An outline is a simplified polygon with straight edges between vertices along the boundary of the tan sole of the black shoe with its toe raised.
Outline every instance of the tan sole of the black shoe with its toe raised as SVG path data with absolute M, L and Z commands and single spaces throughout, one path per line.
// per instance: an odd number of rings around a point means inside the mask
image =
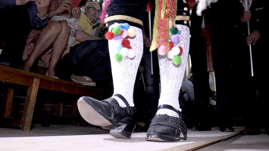
M 114 124 L 102 116 L 98 111 L 96 111 L 90 102 L 83 97 L 79 98 L 77 101 L 77 108 L 79 109 L 79 113 L 83 119 L 90 124 L 97 126 L 109 126 Z

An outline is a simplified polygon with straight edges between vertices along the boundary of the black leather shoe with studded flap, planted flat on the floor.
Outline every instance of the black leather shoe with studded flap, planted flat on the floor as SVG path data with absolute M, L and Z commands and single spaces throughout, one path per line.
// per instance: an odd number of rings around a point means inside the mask
M 158 109 L 171 109 L 179 114 L 178 117 L 155 115 L 147 131 L 147 141 L 176 142 L 180 139 L 180 131 L 187 138 L 187 127 L 180 111 L 170 105 L 160 105 Z

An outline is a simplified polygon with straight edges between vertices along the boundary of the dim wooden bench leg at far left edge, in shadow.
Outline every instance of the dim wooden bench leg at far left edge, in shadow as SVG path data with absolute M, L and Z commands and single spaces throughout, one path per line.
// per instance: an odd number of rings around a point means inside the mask
M 12 100 L 13 100 L 14 89 L 8 88 L 3 97 L 3 105 L 1 109 L 1 117 L 9 118 L 11 114 L 12 108 Z

